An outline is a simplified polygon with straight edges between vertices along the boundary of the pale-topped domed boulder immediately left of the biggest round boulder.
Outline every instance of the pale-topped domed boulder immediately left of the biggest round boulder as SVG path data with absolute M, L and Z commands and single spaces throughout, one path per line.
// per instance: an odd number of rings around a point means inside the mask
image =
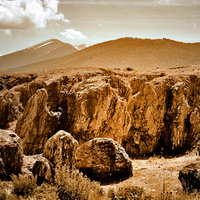
M 54 166 L 72 167 L 75 164 L 75 151 L 78 146 L 78 141 L 70 133 L 60 130 L 46 142 L 43 156 Z

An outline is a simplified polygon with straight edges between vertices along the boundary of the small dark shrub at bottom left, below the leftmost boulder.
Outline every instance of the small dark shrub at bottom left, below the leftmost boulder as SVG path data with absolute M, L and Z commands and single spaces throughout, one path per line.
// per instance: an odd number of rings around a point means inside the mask
M 12 175 L 13 193 L 17 196 L 28 197 L 33 194 L 34 189 L 37 187 L 37 179 L 32 176 L 19 174 L 19 176 Z

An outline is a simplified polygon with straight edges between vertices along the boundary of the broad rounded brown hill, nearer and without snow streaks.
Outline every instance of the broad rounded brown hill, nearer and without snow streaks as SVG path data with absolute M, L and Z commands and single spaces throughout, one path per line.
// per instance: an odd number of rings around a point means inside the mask
M 155 69 L 200 64 L 200 43 L 169 39 L 121 38 L 96 44 L 76 53 L 22 66 L 10 72 L 69 67 Z

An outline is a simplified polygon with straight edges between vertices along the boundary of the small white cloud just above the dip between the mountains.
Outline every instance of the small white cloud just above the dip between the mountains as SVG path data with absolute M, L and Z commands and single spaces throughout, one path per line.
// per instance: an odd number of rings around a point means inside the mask
M 65 29 L 65 32 L 60 33 L 63 37 L 71 40 L 85 40 L 88 37 L 83 35 L 80 31 L 76 31 L 74 29 Z

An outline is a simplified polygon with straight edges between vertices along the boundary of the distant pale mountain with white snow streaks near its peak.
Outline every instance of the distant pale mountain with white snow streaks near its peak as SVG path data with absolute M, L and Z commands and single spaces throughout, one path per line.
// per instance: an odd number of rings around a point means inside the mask
M 47 40 L 29 48 L 0 57 L 0 70 L 59 58 L 78 51 L 70 44 L 57 39 Z

